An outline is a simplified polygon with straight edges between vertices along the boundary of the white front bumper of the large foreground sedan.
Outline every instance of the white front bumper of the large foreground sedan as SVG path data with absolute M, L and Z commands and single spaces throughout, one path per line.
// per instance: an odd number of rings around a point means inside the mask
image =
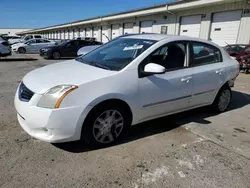
M 15 95 L 17 118 L 22 128 L 39 140 L 59 143 L 81 138 L 83 112 L 81 107 L 48 109 L 37 107 L 41 95 L 34 94 L 29 102 L 19 100 Z

